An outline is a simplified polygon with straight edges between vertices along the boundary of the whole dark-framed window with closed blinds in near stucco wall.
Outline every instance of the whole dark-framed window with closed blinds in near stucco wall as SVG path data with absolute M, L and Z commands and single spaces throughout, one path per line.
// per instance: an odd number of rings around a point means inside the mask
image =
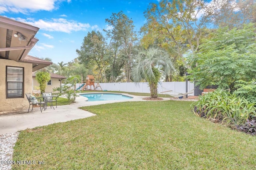
M 24 97 L 24 67 L 6 66 L 6 98 Z

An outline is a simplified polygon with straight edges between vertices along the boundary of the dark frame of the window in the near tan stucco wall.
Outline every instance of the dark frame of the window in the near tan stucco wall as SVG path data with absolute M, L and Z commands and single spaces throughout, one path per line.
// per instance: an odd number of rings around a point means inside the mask
M 22 75 L 22 81 L 8 81 L 8 75 L 10 75 L 10 74 L 8 74 L 8 68 L 12 68 L 12 69 L 14 69 L 14 68 L 22 68 L 22 74 L 20 74 L 20 75 Z M 6 79 L 6 83 L 5 83 L 5 85 L 6 85 L 6 99 L 13 99 L 13 98 L 24 98 L 24 72 L 25 72 L 25 68 L 24 67 L 20 67 L 20 66 L 6 66 L 6 77 L 5 77 L 5 79 Z M 17 87 L 18 87 L 18 83 L 22 83 L 22 89 L 8 89 L 8 83 L 17 83 Z M 10 91 L 10 90 L 21 90 L 22 91 L 22 95 L 21 96 L 11 96 L 11 97 L 8 97 L 8 91 Z

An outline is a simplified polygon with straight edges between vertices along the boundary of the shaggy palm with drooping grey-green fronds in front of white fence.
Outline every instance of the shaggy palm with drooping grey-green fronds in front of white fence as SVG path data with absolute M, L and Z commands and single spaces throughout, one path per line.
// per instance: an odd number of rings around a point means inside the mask
M 134 82 L 139 82 L 142 78 L 146 79 L 150 87 L 150 97 L 157 98 L 157 85 L 160 80 L 162 68 L 165 74 L 174 70 L 172 61 L 168 53 L 158 47 L 142 49 L 136 57 L 136 65 L 132 69 Z

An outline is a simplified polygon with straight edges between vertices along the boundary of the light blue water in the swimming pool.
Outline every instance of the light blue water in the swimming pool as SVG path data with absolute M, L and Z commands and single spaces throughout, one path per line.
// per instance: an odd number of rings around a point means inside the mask
M 111 93 L 86 93 L 86 94 L 80 94 L 80 96 L 84 96 L 88 98 L 88 102 L 132 99 L 132 97 L 129 97 L 129 96 L 124 96 L 122 94 L 111 94 Z

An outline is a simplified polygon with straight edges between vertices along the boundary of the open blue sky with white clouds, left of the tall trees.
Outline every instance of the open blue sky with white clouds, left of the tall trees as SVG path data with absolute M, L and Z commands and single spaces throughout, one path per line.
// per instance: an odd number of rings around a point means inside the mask
M 77 56 L 89 31 L 104 33 L 105 22 L 121 10 L 139 31 L 145 23 L 143 12 L 157 0 L 0 0 L 0 15 L 39 27 L 38 43 L 29 55 L 68 63 Z

